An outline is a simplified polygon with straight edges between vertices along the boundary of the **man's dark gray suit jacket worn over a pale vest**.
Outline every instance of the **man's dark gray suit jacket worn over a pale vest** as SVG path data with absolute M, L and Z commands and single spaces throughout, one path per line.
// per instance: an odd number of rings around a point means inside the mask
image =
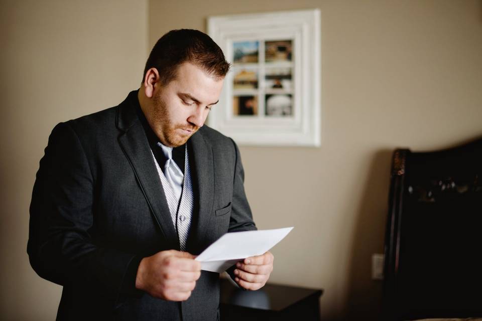
M 31 265 L 63 285 L 60 320 L 215 320 L 218 273 L 202 271 L 184 302 L 135 289 L 142 257 L 179 250 L 136 93 L 53 129 L 30 207 Z M 199 254 L 228 231 L 256 227 L 235 143 L 203 126 L 188 148 L 195 200 L 187 251 Z

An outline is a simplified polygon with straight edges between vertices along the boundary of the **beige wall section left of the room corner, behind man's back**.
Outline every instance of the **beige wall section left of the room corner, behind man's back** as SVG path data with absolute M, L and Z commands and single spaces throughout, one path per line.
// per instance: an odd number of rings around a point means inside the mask
M 141 82 L 147 1 L 2 2 L 0 319 L 54 320 L 60 286 L 26 253 L 35 173 L 53 126 L 113 106 Z

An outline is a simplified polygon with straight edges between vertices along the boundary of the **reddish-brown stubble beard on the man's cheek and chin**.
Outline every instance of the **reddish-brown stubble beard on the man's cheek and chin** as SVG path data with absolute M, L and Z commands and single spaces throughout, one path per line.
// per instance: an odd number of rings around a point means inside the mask
M 154 132 L 166 146 L 177 147 L 186 143 L 186 141 L 199 129 L 199 127 L 186 124 L 173 124 L 169 121 L 169 113 L 167 111 L 166 103 L 161 98 L 160 94 L 154 97 L 153 122 L 155 124 Z M 177 129 L 192 130 L 190 135 L 180 135 Z M 165 141 L 163 141 L 165 140 Z

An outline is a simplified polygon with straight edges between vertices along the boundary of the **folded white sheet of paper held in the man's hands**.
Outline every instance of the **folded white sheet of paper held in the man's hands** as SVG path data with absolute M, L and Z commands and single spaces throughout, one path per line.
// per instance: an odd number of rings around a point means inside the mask
M 239 260 L 266 253 L 292 230 L 286 227 L 276 230 L 226 233 L 196 257 L 201 269 L 224 272 Z

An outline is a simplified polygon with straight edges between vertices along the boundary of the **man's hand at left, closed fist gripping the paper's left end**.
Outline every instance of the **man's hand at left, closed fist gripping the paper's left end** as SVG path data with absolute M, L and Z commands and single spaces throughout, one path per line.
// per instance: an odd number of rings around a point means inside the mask
M 136 288 L 165 300 L 187 300 L 201 275 L 201 263 L 194 257 L 169 250 L 143 258 L 137 270 Z

